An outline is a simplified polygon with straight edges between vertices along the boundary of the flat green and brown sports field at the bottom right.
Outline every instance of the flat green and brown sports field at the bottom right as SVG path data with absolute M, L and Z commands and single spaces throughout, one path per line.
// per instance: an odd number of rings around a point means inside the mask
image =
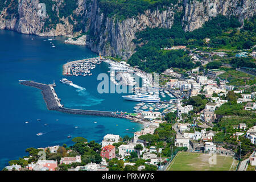
M 216 155 L 216 164 L 210 160 L 210 155 L 191 152 L 178 152 L 172 160 L 169 171 L 234 171 L 237 168 L 238 161 L 232 156 Z

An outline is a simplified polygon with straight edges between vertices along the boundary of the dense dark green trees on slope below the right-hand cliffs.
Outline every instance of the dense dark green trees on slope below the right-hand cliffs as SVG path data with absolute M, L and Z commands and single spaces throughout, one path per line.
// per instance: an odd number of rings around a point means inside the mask
M 255 17 L 246 20 L 245 28 L 239 31 L 237 28 L 241 26 L 241 23 L 234 16 L 227 18 L 226 16 L 218 15 L 209 20 L 209 22 L 205 22 L 203 27 L 192 32 L 184 32 L 180 22 L 180 14 L 176 13 L 175 22 L 171 29 L 157 27 L 146 28 L 144 31 L 137 32 L 135 34 L 136 39 L 133 40 L 137 44 L 136 52 L 130 57 L 128 63 L 138 65 L 140 69 L 146 72 L 161 73 L 170 67 L 191 69 L 197 67 L 198 64 L 190 60 L 188 52 L 165 51 L 162 48 L 172 46 L 187 46 L 191 48 L 196 46 L 235 46 L 236 49 L 240 47 L 251 48 L 256 42 L 255 32 L 253 32 L 255 30 Z M 227 31 L 231 33 L 228 34 L 226 33 Z M 240 34 L 235 34 L 234 32 L 240 32 Z M 224 35 L 228 38 L 223 38 Z M 247 36 L 243 37 L 242 35 Z M 242 36 L 242 38 L 238 39 L 238 36 Z M 204 43 L 205 38 L 210 38 L 208 45 Z M 235 58 L 230 61 L 230 64 L 243 64 L 243 66 L 248 65 L 248 67 L 254 68 L 254 62 L 251 59 L 237 60 Z M 218 65 L 211 64 L 208 67 L 218 68 L 221 64 L 221 62 Z

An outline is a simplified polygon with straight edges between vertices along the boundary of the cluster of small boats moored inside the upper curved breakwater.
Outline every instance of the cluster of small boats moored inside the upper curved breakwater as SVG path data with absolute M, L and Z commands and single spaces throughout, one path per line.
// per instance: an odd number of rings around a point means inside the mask
M 101 64 L 101 61 L 97 58 L 74 63 L 71 65 L 71 69 L 75 76 L 90 76 L 92 75 L 90 70 L 94 69 L 96 64 Z

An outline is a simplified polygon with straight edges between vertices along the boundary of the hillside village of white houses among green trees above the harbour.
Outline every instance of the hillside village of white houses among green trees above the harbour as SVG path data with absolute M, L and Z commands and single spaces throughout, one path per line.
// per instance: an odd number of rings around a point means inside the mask
M 165 170 L 179 151 L 233 156 L 241 162 L 238 170 L 255 169 L 255 83 L 230 85 L 221 77 L 225 72 L 198 67 L 184 75 L 167 69 L 160 84 L 177 97 L 170 100 L 175 107 L 127 116 L 144 126 L 133 137 L 107 134 L 100 144 L 77 137 L 73 146 L 28 148 L 28 156 L 11 160 L 3 170 Z M 243 72 L 255 80 L 255 69 Z M 46 152 L 43 160 L 40 151 Z

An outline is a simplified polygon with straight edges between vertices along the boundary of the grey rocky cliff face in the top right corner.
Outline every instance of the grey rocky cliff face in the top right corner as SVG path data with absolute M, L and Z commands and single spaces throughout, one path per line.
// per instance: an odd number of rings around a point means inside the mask
M 256 0 L 190 0 L 185 4 L 183 27 L 185 31 L 193 31 L 218 14 L 234 15 L 242 22 L 255 12 Z

